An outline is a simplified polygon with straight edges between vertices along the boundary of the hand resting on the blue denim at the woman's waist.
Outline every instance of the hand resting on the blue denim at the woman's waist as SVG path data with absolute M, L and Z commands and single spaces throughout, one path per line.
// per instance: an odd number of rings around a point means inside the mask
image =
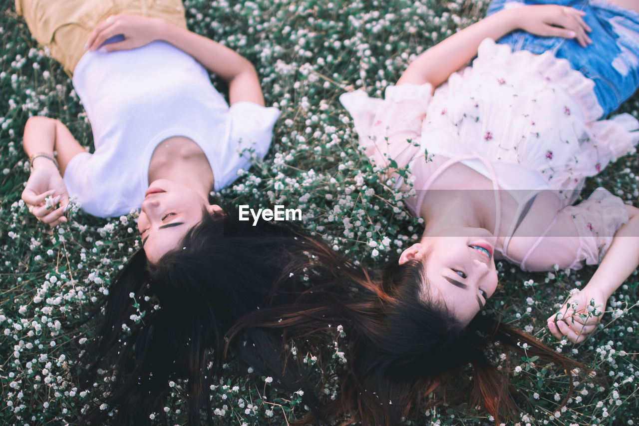
M 574 38 L 586 47 L 592 40 L 586 34 L 590 27 L 583 20 L 585 12 L 559 6 L 558 4 L 536 4 L 511 9 L 518 28 L 544 37 Z

